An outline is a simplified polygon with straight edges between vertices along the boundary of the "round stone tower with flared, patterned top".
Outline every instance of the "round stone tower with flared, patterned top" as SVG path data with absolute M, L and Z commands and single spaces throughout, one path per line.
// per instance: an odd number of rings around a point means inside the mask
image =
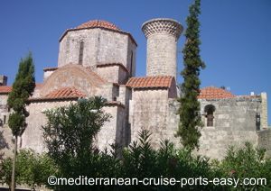
M 142 25 L 147 39 L 146 76 L 172 76 L 177 71 L 177 41 L 182 25 L 173 19 L 152 19 Z

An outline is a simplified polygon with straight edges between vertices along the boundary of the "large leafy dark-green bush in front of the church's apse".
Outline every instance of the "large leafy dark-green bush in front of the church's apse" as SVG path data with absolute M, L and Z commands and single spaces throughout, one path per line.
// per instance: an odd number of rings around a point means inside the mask
M 105 114 L 102 97 L 80 99 L 75 104 L 62 106 L 44 112 L 48 118 L 44 130 L 44 140 L 49 156 L 60 168 L 63 177 L 98 177 L 99 172 L 106 171 L 105 155 L 95 148 L 94 138 L 100 128 L 110 117 Z M 104 175 L 106 176 L 106 175 Z M 88 190 L 84 186 L 55 187 L 64 190 Z

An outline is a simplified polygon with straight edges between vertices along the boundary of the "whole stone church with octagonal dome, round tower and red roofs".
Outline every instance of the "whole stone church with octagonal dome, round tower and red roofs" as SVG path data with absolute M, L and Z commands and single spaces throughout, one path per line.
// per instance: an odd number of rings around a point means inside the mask
M 66 30 L 59 40 L 58 66 L 44 68 L 42 84 L 37 84 L 28 105 L 28 126 L 20 137 L 19 148 L 46 150 L 41 126 L 46 123 L 42 112 L 69 105 L 79 98 L 103 96 L 104 107 L 112 118 L 96 137 L 98 148 L 116 142 L 127 146 L 142 129 L 150 130 L 152 143 L 161 139 L 180 145 L 174 137 L 178 128 L 176 114 L 179 95 L 176 86 L 177 41 L 182 25 L 172 19 L 153 19 L 143 23 L 147 41 L 146 77 L 135 77 L 136 41 L 132 34 L 106 21 L 89 21 Z M 6 105 L 11 86 L 7 77 L 0 78 L 1 132 L 12 145 L 7 127 Z M 201 89 L 201 129 L 199 153 L 220 159 L 229 145 L 245 141 L 271 150 L 271 131 L 267 125 L 266 93 L 236 96 L 209 86 Z M 6 150 L 8 152 L 8 150 Z

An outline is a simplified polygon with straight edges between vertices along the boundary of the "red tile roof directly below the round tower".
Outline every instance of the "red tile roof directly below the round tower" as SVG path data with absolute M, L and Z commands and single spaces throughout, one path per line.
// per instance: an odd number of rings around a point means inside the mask
M 173 77 L 169 76 L 131 77 L 126 83 L 126 86 L 130 86 L 132 88 L 169 88 L 172 84 L 172 81 Z

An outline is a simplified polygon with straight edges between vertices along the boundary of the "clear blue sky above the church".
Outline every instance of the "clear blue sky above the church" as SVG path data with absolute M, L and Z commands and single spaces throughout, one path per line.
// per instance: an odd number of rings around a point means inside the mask
M 0 74 L 14 81 L 18 63 L 33 52 L 36 81 L 42 68 L 56 67 L 59 38 L 68 28 L 89 20 L 106 20 L 130 32 L 138 44 L 136 76 L 145 76 L 145 21 L 185 18 L 192 0 L 2 0 L 0 3 Z M 228 86 L 235 95 L 266 92 L 271 112 L 271 1 L 203 0 L 201 3 L 201 86 Z M 184 37 L 178 43 L 182 70 Z M 182 77 L 178 78 L 182 82 Z M 271 113 L 270 113 L 271 114 Z M 271 123 L 269 115 L 268 121 Z

